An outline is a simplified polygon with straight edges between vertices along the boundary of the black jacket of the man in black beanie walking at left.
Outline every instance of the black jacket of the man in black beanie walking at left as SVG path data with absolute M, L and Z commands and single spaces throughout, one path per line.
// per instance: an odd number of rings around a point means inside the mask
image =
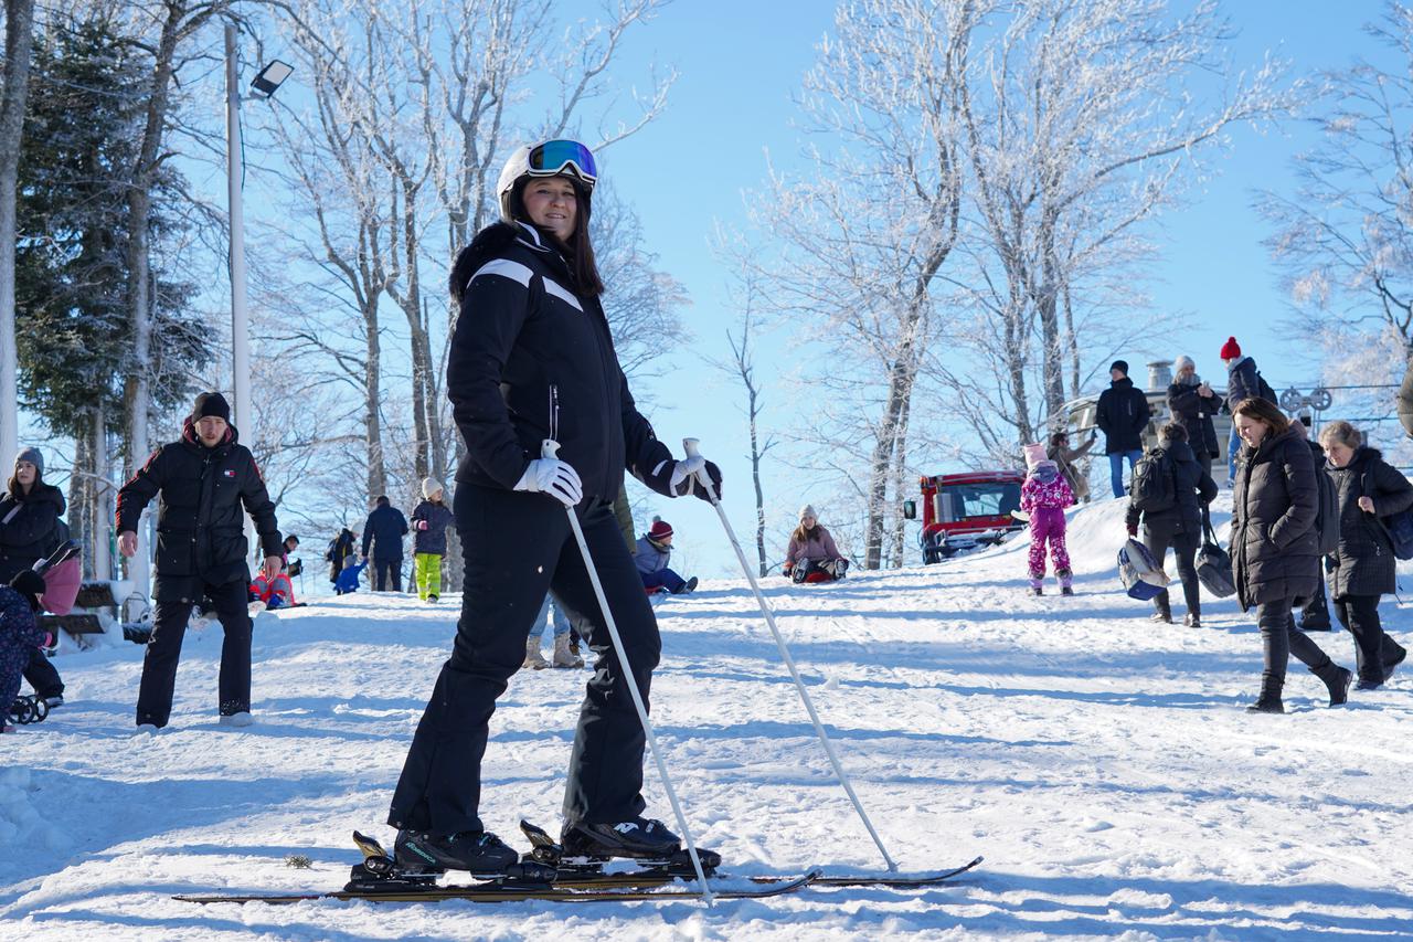
M 181 440 L 154 451 L 117 492 L 117 532 L 136 533 L 143 508 L 157 495 L 157 601 L 198 603 L 208 584 L 249 583 L 246 513 L 256 522 L 263 556 L 284 556 L 274 502 L 235 426 L 208 448 L 187 419 Z

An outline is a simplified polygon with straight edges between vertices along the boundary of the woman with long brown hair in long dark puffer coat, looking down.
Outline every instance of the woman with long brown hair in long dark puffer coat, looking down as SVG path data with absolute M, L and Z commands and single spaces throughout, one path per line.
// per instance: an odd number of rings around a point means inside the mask
M 1243 447 L 1232 495 L 1232 576 L 1242 611 L 1256 608 L 1265 649 L 1260 697 L 1251 713 L 1284 713 L 1280 694 L 1294 653 L 1324 680 L 1330 706 L 1348 699 L 1352 673 L 1338 666 L 1308 635 L 1296 629 L 1296 600 L 1316 591 L 1318 566 L 1318 484 L 1310 447 L 1284 413 L 1265 399 L 1245 399 L 1234 410 Z

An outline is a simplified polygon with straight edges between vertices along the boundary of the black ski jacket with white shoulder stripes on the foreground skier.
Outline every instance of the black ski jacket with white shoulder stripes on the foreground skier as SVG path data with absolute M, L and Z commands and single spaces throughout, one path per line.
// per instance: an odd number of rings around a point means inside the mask
M 564 259 L 531 226 L 497 222 L 466 252 L 447 364 L 466 441 L 456 481 L 512 489 L 554 437 L 585 499 L 610 504 L 625 468 L 671 496 L 673 455 L 637 412 L 599 300 L 571 290 Z

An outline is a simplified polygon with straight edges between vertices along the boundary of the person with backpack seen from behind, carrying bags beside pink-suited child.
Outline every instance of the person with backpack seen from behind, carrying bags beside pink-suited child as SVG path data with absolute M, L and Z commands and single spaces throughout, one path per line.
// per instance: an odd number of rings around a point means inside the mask
M 1202 519 L 1207 505 L 1217 498 L 1217 482 L 1207 471 L 1205 463 L 1198 461 L 1187 441 L 1187 429 L 1176 420 L 1163 426 L 1159 431 L 1159 447 L 1149 454 L 1150 461 L 1157 461 L 1157 474 L 1166 474 L 1173 481 L 1173 504 L 1166 508 L 1147 508 L 1140 511 L 1129 502 L 1129 512 L 1125 518 L 1129 536 L 1137 536 L 1139 521 L 1143 522 L 1143 545 L 1153 553 L 1159 566 L 1167 557 L 1167 547 L 1173 547 L 1177 557 L 1177 577 L 1183 583 L 1183 600 L 1187 603 L 1187 615 L 1183 625 L 1187 628 L 1202 627 L 1201 581 L 1197 578 L 1197 547 L 1202 542 Z M 1153 597 L 1153 621 L 1173 624 L 1173 603 L 1164 588 Z

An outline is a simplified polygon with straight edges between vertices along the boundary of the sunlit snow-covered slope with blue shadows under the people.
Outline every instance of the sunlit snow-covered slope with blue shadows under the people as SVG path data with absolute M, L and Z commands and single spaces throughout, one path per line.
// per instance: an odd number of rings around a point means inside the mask
M 0 741 L 3 938 L 1413 938 L 1413 670 L 1331 710 L 1293 662 L 1290 714 L 1249 716 L 1252 621 L 1207 600 L 1201 629 L 1150 624 L 1113 576 L 1122 529 L 1118 502 L 1074 515 L 1075 598 L 1027 595 L 1019 545 L 835 586 L 773 580 L 889 850 L 907 870 L 986 856 L 957 883 L 711 909 L 172 901 L 336 888 L 359 859 L 352 829 L 391 840 L 390 789 L 456 600 L 359 594 L 259 621 L 247 730 L 216 726 L 219 628 L 188 635 L 155 737 L 131 731 L 140 648 L 61 658 L 71 704 Z M 1413 641 L 1409 611 L 1385 614 Z M 699 842 L 733 873 L 880 870 L 746 584 L 658 618 L 654 720 Z M 1352 663 L 1348 635 L 1314 636 Z M 521 672 L 492 721 L 482 813 L 514 843 L 521 816 L 558 825 L 586 676 Z M 651 774 L 647 792 L 670 819 Z

